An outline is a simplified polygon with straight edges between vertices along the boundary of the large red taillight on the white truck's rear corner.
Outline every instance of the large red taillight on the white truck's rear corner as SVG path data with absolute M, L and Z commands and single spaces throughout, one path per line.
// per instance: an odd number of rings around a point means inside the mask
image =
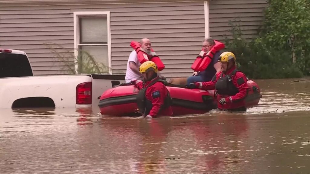
M 76 89 L 76 104 L 90 105 L 91 104 L 91 82 L 78 84 Z

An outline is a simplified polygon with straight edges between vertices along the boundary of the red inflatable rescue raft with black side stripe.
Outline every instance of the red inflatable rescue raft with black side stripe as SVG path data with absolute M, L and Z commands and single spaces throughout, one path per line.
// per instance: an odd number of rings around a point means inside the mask
M 258 85 L 248 80 L 250 91 L 246 97 L 246 107 L 258 104 L 261 98 Z M 172 98 L 172 116 L 203 114 L 217 108 L 214 90 L 187 89 L 178 85 L 167 84 Z M 120 85 L 106 90 L 100 97 L 99 108 L 102 115 L 139 116 L 136 95 L 139 90 L 134 85 Z

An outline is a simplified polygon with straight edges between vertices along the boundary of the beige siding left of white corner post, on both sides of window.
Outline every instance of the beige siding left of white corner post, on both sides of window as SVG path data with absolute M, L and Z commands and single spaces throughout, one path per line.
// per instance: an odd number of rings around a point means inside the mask
M 112 69 L 126 73 L 130 41 L 150 38 L 166 77 L 190 76 L 205 37 L 204 2 L 0 7 L 0 47 L 25 51 L 35 75 L 69 73 L 72 63 L 73 12 L 110 11 Z M 55 58 L 43 43 L 65 59 Z M 73 67 L 71 67 L 73 68 Z

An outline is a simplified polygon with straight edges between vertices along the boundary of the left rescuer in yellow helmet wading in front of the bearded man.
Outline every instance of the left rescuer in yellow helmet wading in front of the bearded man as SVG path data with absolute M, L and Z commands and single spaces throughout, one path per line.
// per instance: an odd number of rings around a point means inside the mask
M 139 67 L 143 81 L 133 80 L 131 83 L 140 91 L 137 95 L 139 111 L 146 118 L 157 117 L 158 115 L 171 116 L 172 99 L 169 91 L 164 85 L 166 81 L 157 75 L 157 65 L 152 61 L 146 61 Z

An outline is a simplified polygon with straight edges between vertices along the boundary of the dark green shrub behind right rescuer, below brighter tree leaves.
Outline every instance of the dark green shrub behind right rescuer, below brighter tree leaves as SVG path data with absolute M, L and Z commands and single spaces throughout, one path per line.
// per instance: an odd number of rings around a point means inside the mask
M 246 41 L 241 30 L 233 26 L 232 39 L 226 38 L 226 50 L 237 57 L 238 69 L 253 79 L 293 78 L 303 75 L 291 61 L 289 50 L 274 49 L 261 37 Z

